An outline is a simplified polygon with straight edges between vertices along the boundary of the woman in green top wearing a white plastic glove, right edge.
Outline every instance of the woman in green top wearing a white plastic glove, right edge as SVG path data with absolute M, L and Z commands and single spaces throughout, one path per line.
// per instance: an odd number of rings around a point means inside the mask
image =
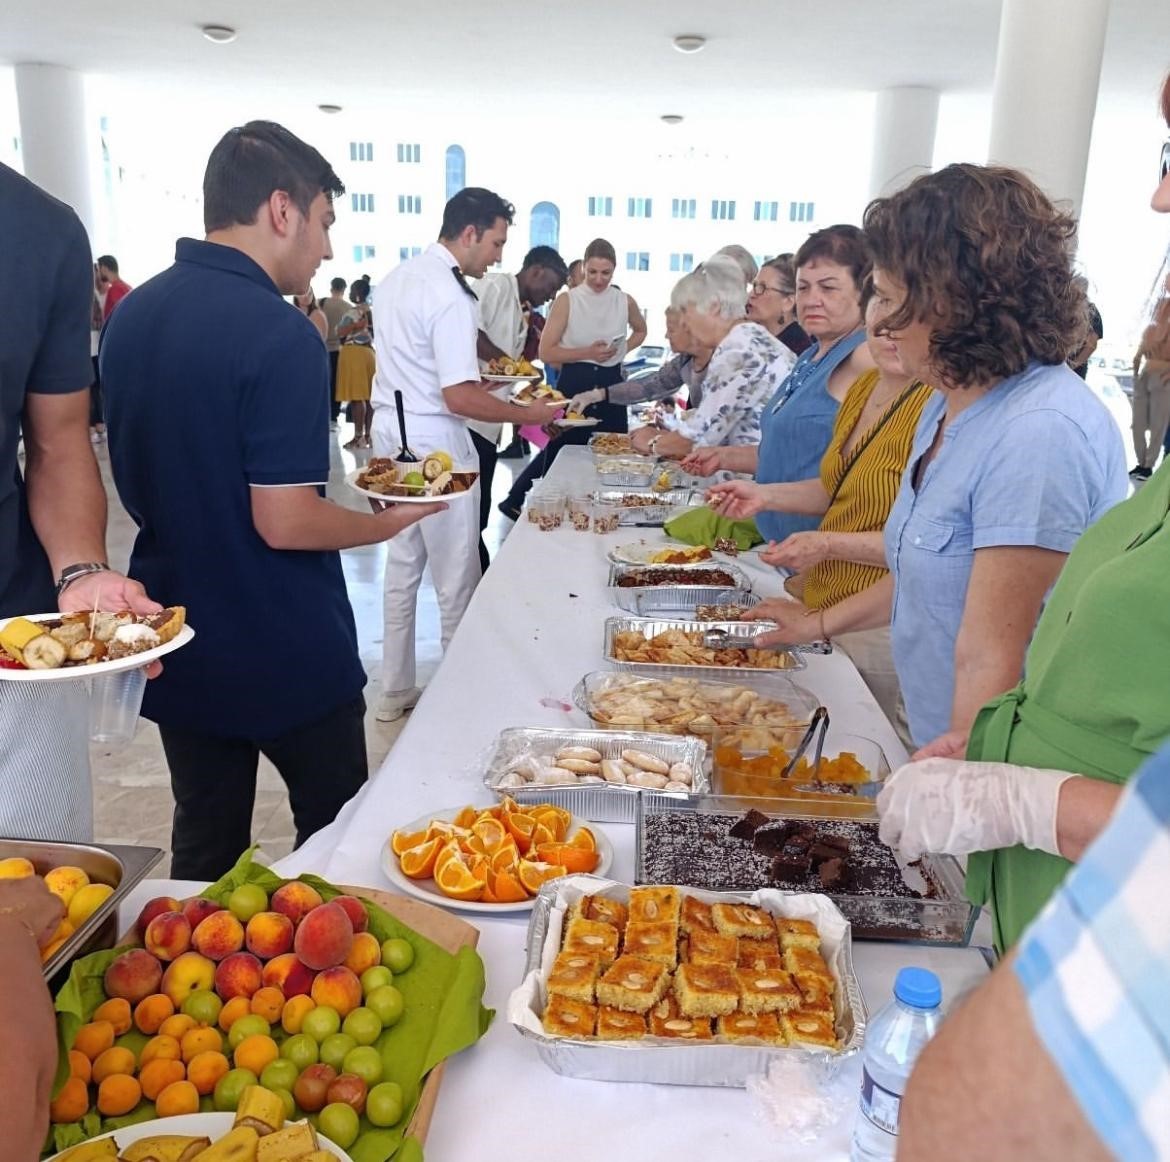
M 1170 77 L 1162 111 L 1170 125 Z M 1159 177 L 1152 207 L 1170 213 L 1170 172 Z M 979 711 L 966 759 L 910 763 L 878 800 L 881 837 L 903 855 L 970 857 L 968 895 L 991 905 L 1000 951 L 1108 823 L 1122 785 L 1170 737 L 1168 577 L 1163 461 L 1076 542 L 1024 681 Z

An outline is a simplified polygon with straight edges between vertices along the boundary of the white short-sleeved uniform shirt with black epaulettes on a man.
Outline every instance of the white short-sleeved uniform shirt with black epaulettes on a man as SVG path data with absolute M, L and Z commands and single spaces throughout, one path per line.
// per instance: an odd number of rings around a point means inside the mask
M 450 250 L 433 242 L 395 267 L 378 284 L 373 301 L 377 371 L 373 406 L 394 407 L 395 389 L 411 415 L 463 422 L 447 408 L 442 389 L 476 383 L 476 300 L 459 284 Z

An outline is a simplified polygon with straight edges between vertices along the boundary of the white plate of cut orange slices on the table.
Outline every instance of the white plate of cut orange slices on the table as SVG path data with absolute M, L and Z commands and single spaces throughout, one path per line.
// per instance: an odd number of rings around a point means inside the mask
M 610 840 L 564 807 L 508 797 L 421 816 L 381 850 L 381 869 L 399 892 L 468 912 L 528 912 L 545 880 L 604 875 L 612 862 Z

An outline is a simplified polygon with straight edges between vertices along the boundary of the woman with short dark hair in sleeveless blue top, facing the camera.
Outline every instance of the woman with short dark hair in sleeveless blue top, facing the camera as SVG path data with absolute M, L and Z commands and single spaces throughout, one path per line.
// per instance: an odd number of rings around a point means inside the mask
M 759 444 L 695 448 L 683 461 L 687 472 L 751 473 L 762 484 L 776 484 L 807 480 L 820 470 L 841 400 L 874 365 L 861 317 L 869 259 L 856 226 L 828 226 L 808 236 L 796 264 L 797 317 L 815 342 L 764 405 Z M 756 518 L 768 541 L 783 541 L 819 523 L 819 516 L 778 511 Z

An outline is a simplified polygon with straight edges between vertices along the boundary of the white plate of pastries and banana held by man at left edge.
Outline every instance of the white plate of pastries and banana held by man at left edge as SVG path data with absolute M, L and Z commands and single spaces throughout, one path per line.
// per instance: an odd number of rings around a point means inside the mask
M 137 669 L 195 635 L 187 611 L 82 610 L 30 613 L 0 623 L 0 681 L 51 682 Z

